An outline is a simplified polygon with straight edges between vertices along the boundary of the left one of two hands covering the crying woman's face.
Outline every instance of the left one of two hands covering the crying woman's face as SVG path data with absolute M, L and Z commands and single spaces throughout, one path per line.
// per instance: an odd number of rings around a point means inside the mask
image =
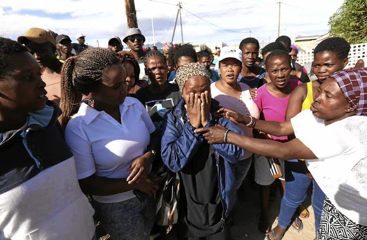
M 186 96 L 186 111 L 190 124 L 198 128 L 202 124 L 201 99 L 197 94 L 190 93 Z M 188 103 L 188 104 L 187 104 Z

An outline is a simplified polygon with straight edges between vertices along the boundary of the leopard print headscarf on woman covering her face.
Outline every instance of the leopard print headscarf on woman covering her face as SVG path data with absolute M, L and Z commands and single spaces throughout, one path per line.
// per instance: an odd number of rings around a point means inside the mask
M 181 66 L 176 72 L 176 82 L 179 85 L 180 92 L 184 90 L 186 81 L 194 76 L 205 76 L 210 80 L 210 73 L 200 63 L 188 63 Z

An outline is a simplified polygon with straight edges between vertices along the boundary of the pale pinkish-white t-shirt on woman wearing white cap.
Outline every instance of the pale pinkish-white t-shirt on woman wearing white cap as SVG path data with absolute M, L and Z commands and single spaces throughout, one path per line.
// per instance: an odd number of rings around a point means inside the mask
M 219 82 L 219 81 L 216 81 Z M 215 82 L 215 83 L 216 83 Z M 233 109 L 242 115 L 252 116 L 255 119 L 259 119 L 260 112 L 256 103 L 252 100 L 250 95 L 250 87 L 246 83 L 238 83 L 241 86 L 241 96 L 237 99 L 233 96 L 228 96 L 227 94 L 221 92 L 215 83 L 210 84 L 211 97 L 219 102 L 222 107 Z M 237 124 L 238 127 L 245 133 L 245 136 L 252 137 L 252 128 L 245 126 L 242 123 Z M 241 160 L 247 159 L 252 155 L 251 151 L 246 150 L 245 155 Z

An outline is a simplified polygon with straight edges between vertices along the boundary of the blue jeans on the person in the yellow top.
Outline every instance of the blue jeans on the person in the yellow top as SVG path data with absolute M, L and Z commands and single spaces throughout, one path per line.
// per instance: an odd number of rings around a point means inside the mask
M 293 160 L 292 160 L 293 161 Z M 296 160 L 297 161 L 297 160 Z M 291 223 L 298 206 L 304 201 L 307 194 L 307 188 L 311 179 L 304 173 L 288 171 L 285 177 L 285 192 L 280 204 L 278 225 L 286 229 Z M 325 194 L 321 191 L 315 180 L 312 192 L 312 207 L 315 214 L 316 234 L 320 224 L 321 210 Z

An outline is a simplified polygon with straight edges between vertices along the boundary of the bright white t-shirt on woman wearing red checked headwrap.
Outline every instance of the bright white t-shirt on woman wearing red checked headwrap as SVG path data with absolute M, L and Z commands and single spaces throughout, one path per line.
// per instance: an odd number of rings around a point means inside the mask
M 296 138 L 318 157 L 306 163 L 321 190 L 342 214 L 367 226 L 367 117 L 325 126 L 305 110 L 291 122 Z

